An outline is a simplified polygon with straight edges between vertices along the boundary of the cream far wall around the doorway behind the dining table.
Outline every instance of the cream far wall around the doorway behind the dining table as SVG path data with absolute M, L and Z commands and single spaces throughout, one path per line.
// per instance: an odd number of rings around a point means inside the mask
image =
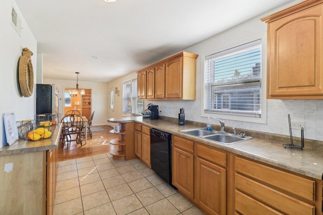
M 59 95 L 62 98 L 60 113 L 64 116 L 64 90 L 65 88 L 76 88 L 76 76 L 75 81 L 43 79 L 43 84 L 56 84 L 56 88 L 59 90 Z M 109 88 L 107 83 L 78 81 L 78 84 L 79 89 L 92 89 L 91 106 L 92 112 L 95 111 L 92 125 L 106 125 L 106 119 L 109 118 L 109 110 L 107 109 L 109 106 Z

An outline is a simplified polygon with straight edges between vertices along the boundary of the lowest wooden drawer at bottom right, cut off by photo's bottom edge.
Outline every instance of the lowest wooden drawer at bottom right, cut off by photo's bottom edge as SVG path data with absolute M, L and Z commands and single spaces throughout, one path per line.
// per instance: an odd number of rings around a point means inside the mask
M 235 207 L 239 213 L 236 214 L 249 214 L 249 215 L 258 215 L 258 214 L 266 214 L 266 215 L 275 215 L 275 214 L 283 214 L 274 210 L 271 207 L 268 207 L 265 204 L 235 190 Z

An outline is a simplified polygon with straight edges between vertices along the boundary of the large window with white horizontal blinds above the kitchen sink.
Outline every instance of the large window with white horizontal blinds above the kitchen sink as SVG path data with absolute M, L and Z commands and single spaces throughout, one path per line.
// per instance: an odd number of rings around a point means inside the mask
M 204 113 L 261 117 L 261 40 L 205 57 Z

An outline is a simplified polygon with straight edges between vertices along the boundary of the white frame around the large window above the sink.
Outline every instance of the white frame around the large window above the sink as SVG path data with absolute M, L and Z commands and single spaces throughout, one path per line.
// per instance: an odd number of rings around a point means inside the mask
M 261 80 L 260 80 L 260 87 L 261 87 L 261 117 L 250 117 L 250 116 L 243 116 L 243 115 L 230 115 L 230 114 L 221 114 L 221 113 L 205 113 L 205 87 L 204 87 L 204 81 L 205 81 L 205 68 L 207 65 L 207 60 L 205 59 L 206 56 L 212 55 L 214 53 L 218 53 L 221 51 L 225 51 L 228 49 L 231 49 L 233 47 L 241 46 L 242 44 L 250 43 L 256 40 L 261 40 Z M 201 54 L 201 101 L 200 101 L 200 116 L 201 117 L 216 117 L 221 119 L 229 119 L 229 120 L 236 120 L 236 121 L 244 121 L 244 122 L 254 122 L 254 123 L 261 123 L 266 124 L 267 123 L 267 99 L 266 99 L 266 56 L 267 56 L 267 35 L 266 32 L 254 35 L 252 37 L 245 38 L 243 40 L 238 40 L 233 43 L 228 43 L 224 46 L 218 46 L 214 50 L 211 50 L 209 53 Z M 216 103 L 216 106 L 220 104 Z M 222 104 L 221 104 L 222 105 Z

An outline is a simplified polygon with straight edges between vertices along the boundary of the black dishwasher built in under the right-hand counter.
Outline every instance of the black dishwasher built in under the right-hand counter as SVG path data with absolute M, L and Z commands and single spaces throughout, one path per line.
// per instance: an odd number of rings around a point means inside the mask
M 172 185 L 171 133 L 150 128 L 150 164 L 160 178 Z

